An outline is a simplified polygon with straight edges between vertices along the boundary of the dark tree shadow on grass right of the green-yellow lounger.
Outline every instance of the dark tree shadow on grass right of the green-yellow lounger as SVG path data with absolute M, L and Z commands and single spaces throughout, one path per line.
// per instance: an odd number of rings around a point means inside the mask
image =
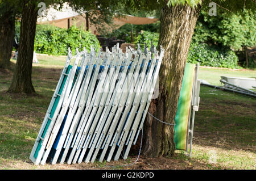
M 193 143 L 255 153 L 256 99 L 201 86 Z

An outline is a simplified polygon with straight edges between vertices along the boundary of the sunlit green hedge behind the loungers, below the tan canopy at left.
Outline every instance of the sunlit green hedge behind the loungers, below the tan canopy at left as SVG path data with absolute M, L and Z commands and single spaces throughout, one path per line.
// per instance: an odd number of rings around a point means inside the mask
M 19 36 L 19 28 L 16 28 L 16 34 Z M 81 51 L 83 47 L 90 51 L 91 45 L 95 50 L 100 48 L 97 37 L 75 26 L 69 29 L 51 25 L 36 26 L 34 45 L 36 53 L 67 55 L 68 47 L 71 47 L 72 52 L 76 52 L 76 48 Z

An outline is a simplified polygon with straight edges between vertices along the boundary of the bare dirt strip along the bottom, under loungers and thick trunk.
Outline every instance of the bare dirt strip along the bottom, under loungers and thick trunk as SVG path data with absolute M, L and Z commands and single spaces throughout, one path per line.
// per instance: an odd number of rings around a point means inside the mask
M 18 168 L 18 169 L 50 169 L 50 170 L 208 170 L 209 167 L 205 163 L 201 163 L 196 159 L 191 159 L 184 154 L 175 153 L 171 158 L 146 158 L 141 155 L 137 162 L 137 155 L 129 156 L 126 160 L 119 158 L 118 161 L 110 162 L 94 162 L 94 163 L 76 163 L 68 165 L 67 163 L 51 165 L 34 165 L 30 159 L 15 160 L 6 162 L 2 159 L 2 166 Z M 1 159 L 0 159 L 1 161 Z M 0 164 L 1 169 L 1 164 Z

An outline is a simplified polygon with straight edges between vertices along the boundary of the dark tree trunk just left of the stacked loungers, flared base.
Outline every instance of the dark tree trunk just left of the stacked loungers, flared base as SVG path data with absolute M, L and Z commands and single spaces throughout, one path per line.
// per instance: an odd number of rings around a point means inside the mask
M 32 0 L 23 1 L 19 53 L 9 92 L 25 92 L 27 94 L 35 92 L 31 73 L 37 16 L 36 3 Z

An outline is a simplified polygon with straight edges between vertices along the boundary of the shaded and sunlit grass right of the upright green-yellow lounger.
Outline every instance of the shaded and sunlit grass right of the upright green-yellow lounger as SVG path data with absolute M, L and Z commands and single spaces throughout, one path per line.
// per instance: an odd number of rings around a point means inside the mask
M 255 98 L 201 86 L 193 158 L 208 162 L 214 150 L 216 168 L 255 169 L 255 107 Z

